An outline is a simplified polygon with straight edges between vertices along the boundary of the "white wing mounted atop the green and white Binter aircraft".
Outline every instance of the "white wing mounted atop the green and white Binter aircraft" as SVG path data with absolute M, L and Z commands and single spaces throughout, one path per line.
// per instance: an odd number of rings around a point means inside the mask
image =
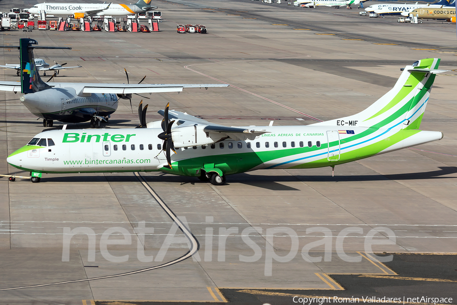
M 164 115 L 164 110 L 157 111 L 160 115 Z M 264 133 L 269 133 L 266 130 L 259 130 L 253 127 L 227 127 L 219 124 L 212 124 L 207 120 L 204 120 L 199 117 L 195 117 L 193 115 L 183 113 L 180 111 L 169 110 L 168 111 L 169 119 L 177 120 L 178 127 L 186 127 L 186 126 L 193 126 L 197 125 L 206 125 L 203 128 L 204 132 L 209 134 L 218 134 L 220 138 L 229 137 L 235 141 L 244 141 L 244 140 L 253 140 L 255 137 L 262 135 Z

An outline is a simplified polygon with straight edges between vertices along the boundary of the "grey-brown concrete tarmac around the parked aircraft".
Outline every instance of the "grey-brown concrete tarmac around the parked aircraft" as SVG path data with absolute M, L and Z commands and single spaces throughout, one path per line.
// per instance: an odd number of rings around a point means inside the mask
M 34 4 L 2 1 L 0 10 Z M 158 33 L 11 31 L 2 33 L 0 43 L 30 37 L 40 45 L 72 47 L 36 51 L 48 63 L 83 66 L 60 72 L 54 78 L 59 82 L 123 83 L 125 68 L 131 83 L 144 75 L 148 83 L 230 83 L 144 99 L 148 121 L 161 119 L 156 111 L 170 102 L 171 109 L 227 126 L 308 125 L 343 117 L 375 102 L 395 84 L 400 68 L 418 59 L 441 58 L 440 68 L 447 70 L 457 66 L 455 24 L 403 24 L 358 16 L 355 8 L 246 0 L 157 6 L 164 18 Z M 208 34 L 176 33 L 176 24 L 189 23 L 205 24 Z M 2 65 L 18 62 L 17 50 L 0 51 Z M 0 79 L 18 77 L 4 70 Z M 334 177 L 331 168 L 275 169 L 228 176 L 226 185 L 215 187 L 143 173 L 200 250 L 193 259 L 135 275 L 122 276 L 173 261 L 189 246 L 133 173 L 46 174 L 39 184 L 1 178 L 0 303 L 223 302 L 233 300 L 231 291 L 246 289 L 337 293 L 345 287 L 334 273 L 400 274 L 366 253 L 375 233 L 374 252 L 456 253 L 455 80 L 455 72 L 437 76 L 421 124 L 422 130 L 442 131 L 442 140 L 337 166 Z M 8 166 L 6 157 L 45 130 L 19 97 L 0 92 L 4 174 L 28 174 Z M 120 100 L 104 128 L 137 126 L 141 99 L 134 97 L 133 111 Z M 142 234 L 141 228 L 149 230 Z M 69 238 L 72 230 L 79 234 Z M 420 277 L 435 276 L 428 273 Z M 2 290 L 112 275 L 119 276 Z M 444 284 L 435 285 L 446 297 L 439 288 Z

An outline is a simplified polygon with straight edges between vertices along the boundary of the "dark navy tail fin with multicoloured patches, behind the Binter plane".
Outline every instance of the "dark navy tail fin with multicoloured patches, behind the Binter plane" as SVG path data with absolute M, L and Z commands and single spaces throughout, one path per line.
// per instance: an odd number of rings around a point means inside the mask
M 38 73 L 34 60 L 34 46 L 38 46 L 38 42 L 34 39 L 19 39 L 21 92 L 24 94 L 50 88 L 49 85 L 41 80 L 40 74 Z

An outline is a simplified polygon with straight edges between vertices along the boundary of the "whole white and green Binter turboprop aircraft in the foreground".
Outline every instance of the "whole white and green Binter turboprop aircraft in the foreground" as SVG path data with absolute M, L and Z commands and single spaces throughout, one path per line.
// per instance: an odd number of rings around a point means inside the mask
M 168 105 L 159 111 L 162 121 L 146 124 L 147 106 L 140 104 L 140 129 L 45 131 L 7 161 L 30 171 L 32 182 L 42 173 L 162 171 L 221 185 L 226 175 L 256 169 L 335 167 L 443 138 L 419 130 L 436 74 L 447 72 L 438 70 L 439 62 L 407 66 L 360 113 L 308 126 L 225 127 Z

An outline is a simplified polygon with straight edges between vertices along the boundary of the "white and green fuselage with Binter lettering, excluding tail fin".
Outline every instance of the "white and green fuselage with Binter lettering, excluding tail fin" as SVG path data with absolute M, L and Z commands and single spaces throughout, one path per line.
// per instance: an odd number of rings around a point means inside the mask
M 42 173 L 164 171 L 199 176 L 209 167 L 227 175 L 255 169 L 335 166 L 442 138 L 441 132 L 349 125 L 262 129 L 268 133 L 253 140 L 227 139 L 179 148 L 172 155 L 171 169 L 166 167 L 162 141 L 157 137 L 162 130 L 157 128 L 46 131 L 7 161 L 21 170 Z

